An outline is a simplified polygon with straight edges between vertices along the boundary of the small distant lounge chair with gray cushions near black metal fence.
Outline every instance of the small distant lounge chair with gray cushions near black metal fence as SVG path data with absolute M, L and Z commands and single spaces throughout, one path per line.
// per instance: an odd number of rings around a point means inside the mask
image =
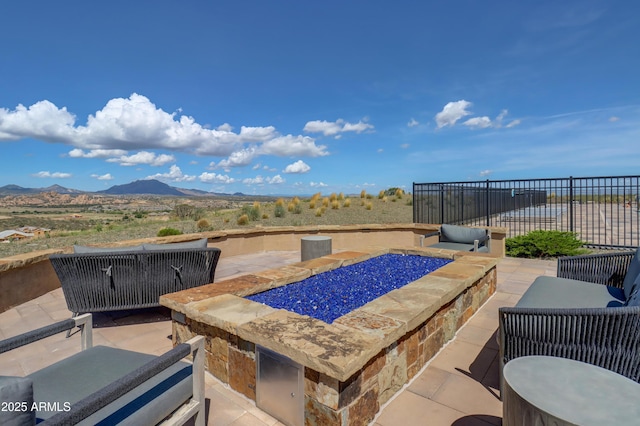
M 426 245 L 425 240 L 434 236 L 438 236 L 438 242 Z M 491 232 L 488 229 L 442 224 L 440 230 L 424 235 L 420 246 L 488 253 L 490 241 Z

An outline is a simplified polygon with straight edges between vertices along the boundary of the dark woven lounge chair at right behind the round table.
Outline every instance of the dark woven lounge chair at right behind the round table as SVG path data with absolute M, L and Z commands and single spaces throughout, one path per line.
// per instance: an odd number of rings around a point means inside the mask
M 515 307 L 499 309 L 501 367 L 548 355 L 640 381 L 639 251 L 560 258 L 557 275 L 538 277 Z

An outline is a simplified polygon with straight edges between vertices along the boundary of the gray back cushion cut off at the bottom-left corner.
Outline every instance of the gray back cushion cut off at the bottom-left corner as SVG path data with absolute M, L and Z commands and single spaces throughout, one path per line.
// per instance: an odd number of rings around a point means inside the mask
M 33 380 L 30 378 L 0 376 L 0 402 L 13 404 L 0 409 L 0 425 L 36 424 L 36 412 L 31 410 Z

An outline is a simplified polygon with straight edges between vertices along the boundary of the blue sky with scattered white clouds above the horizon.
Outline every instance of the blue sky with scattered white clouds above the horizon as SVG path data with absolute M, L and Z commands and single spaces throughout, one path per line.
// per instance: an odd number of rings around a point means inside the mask
M 0 28 L 0 186 L 640 172 L 635 0 L 7 2 Z

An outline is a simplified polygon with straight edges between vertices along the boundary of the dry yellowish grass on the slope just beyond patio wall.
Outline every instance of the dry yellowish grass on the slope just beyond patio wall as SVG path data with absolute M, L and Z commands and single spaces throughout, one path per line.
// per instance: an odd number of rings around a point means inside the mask
M 311 199 L 295 197 L 293 199 L 272 199 L 254 203 L 247 200 L 245 206 L 259 208 L 260 215 L 257 220 L 248 220 L 246 217 L 240 220 L 242 215 L 241 205 L 238 208 L 207 208 L 205 216 L 196 220 L 177 220 L 169 216 L 146 216 L 145 218 L 135 218 L 131 213 L 120 215 L 109 215 L 108 220 L 94 217 L 83 212 L 82 219 L 69 220 L 61 218 L 59 220 L 42 220 L 41 215 L 15 216 L 5 214 L 3 216 L 11 219 L 0 219 L 0 230 L 14 229 L 19 224 L 30 226 L 41 226 L 51 228 L 49 238 L 28 239 L 24 241 L 14 241 L 11 243 L 0 243 L 0 258 L 12 256 L 20 253 L 27 253 L 35 250 L 45 250 L 49 248 L 65 248 L 74 244 L 100 245 L 119 241 L 134 240 L 140 238 L 156 237 L 161 228 L 171 227 L 180 230 L 184 234 L 196 233 L 203 230 L 207 224 L 208 230 L 219 231 L 238 228 L 251 228 L 256 226 L 306 226 L 306 225 L 353 225 L 368 223 L 412 223 L 413 207 L 409 201 L 411 196 L 404 196 L 398 202 L 384 202 L 375 197 L 364 198 L 360 203 L 351 203 L 349 198 L 344 197 L 344 201 L 333 209 L 330 198 L 334 198 L 336 204 L 339 203 L 340 196 L 332 194 L 333 197 L 322 198 L 320 194 L 314 195 Z M 368 194 L 363 194 L 368 195 Z M 315 208 L 311 207 L 314 201 Z M 385 200 L 388 201 L 388 200 Z M 284 216 L 277 217 L 274 212 L 277 205 L 288 206 L 291 204 L 293 211 L 284 208 Z M 319 205 L 321 207 L 319 208 Z M 349 208 L 340 208 L 346 207 Z M 68 212 L 65 213 L 68 215 Z M 127 216 L 127 219 L 123 219 Z M 244 224 L 246 221 L 246 224 Z

